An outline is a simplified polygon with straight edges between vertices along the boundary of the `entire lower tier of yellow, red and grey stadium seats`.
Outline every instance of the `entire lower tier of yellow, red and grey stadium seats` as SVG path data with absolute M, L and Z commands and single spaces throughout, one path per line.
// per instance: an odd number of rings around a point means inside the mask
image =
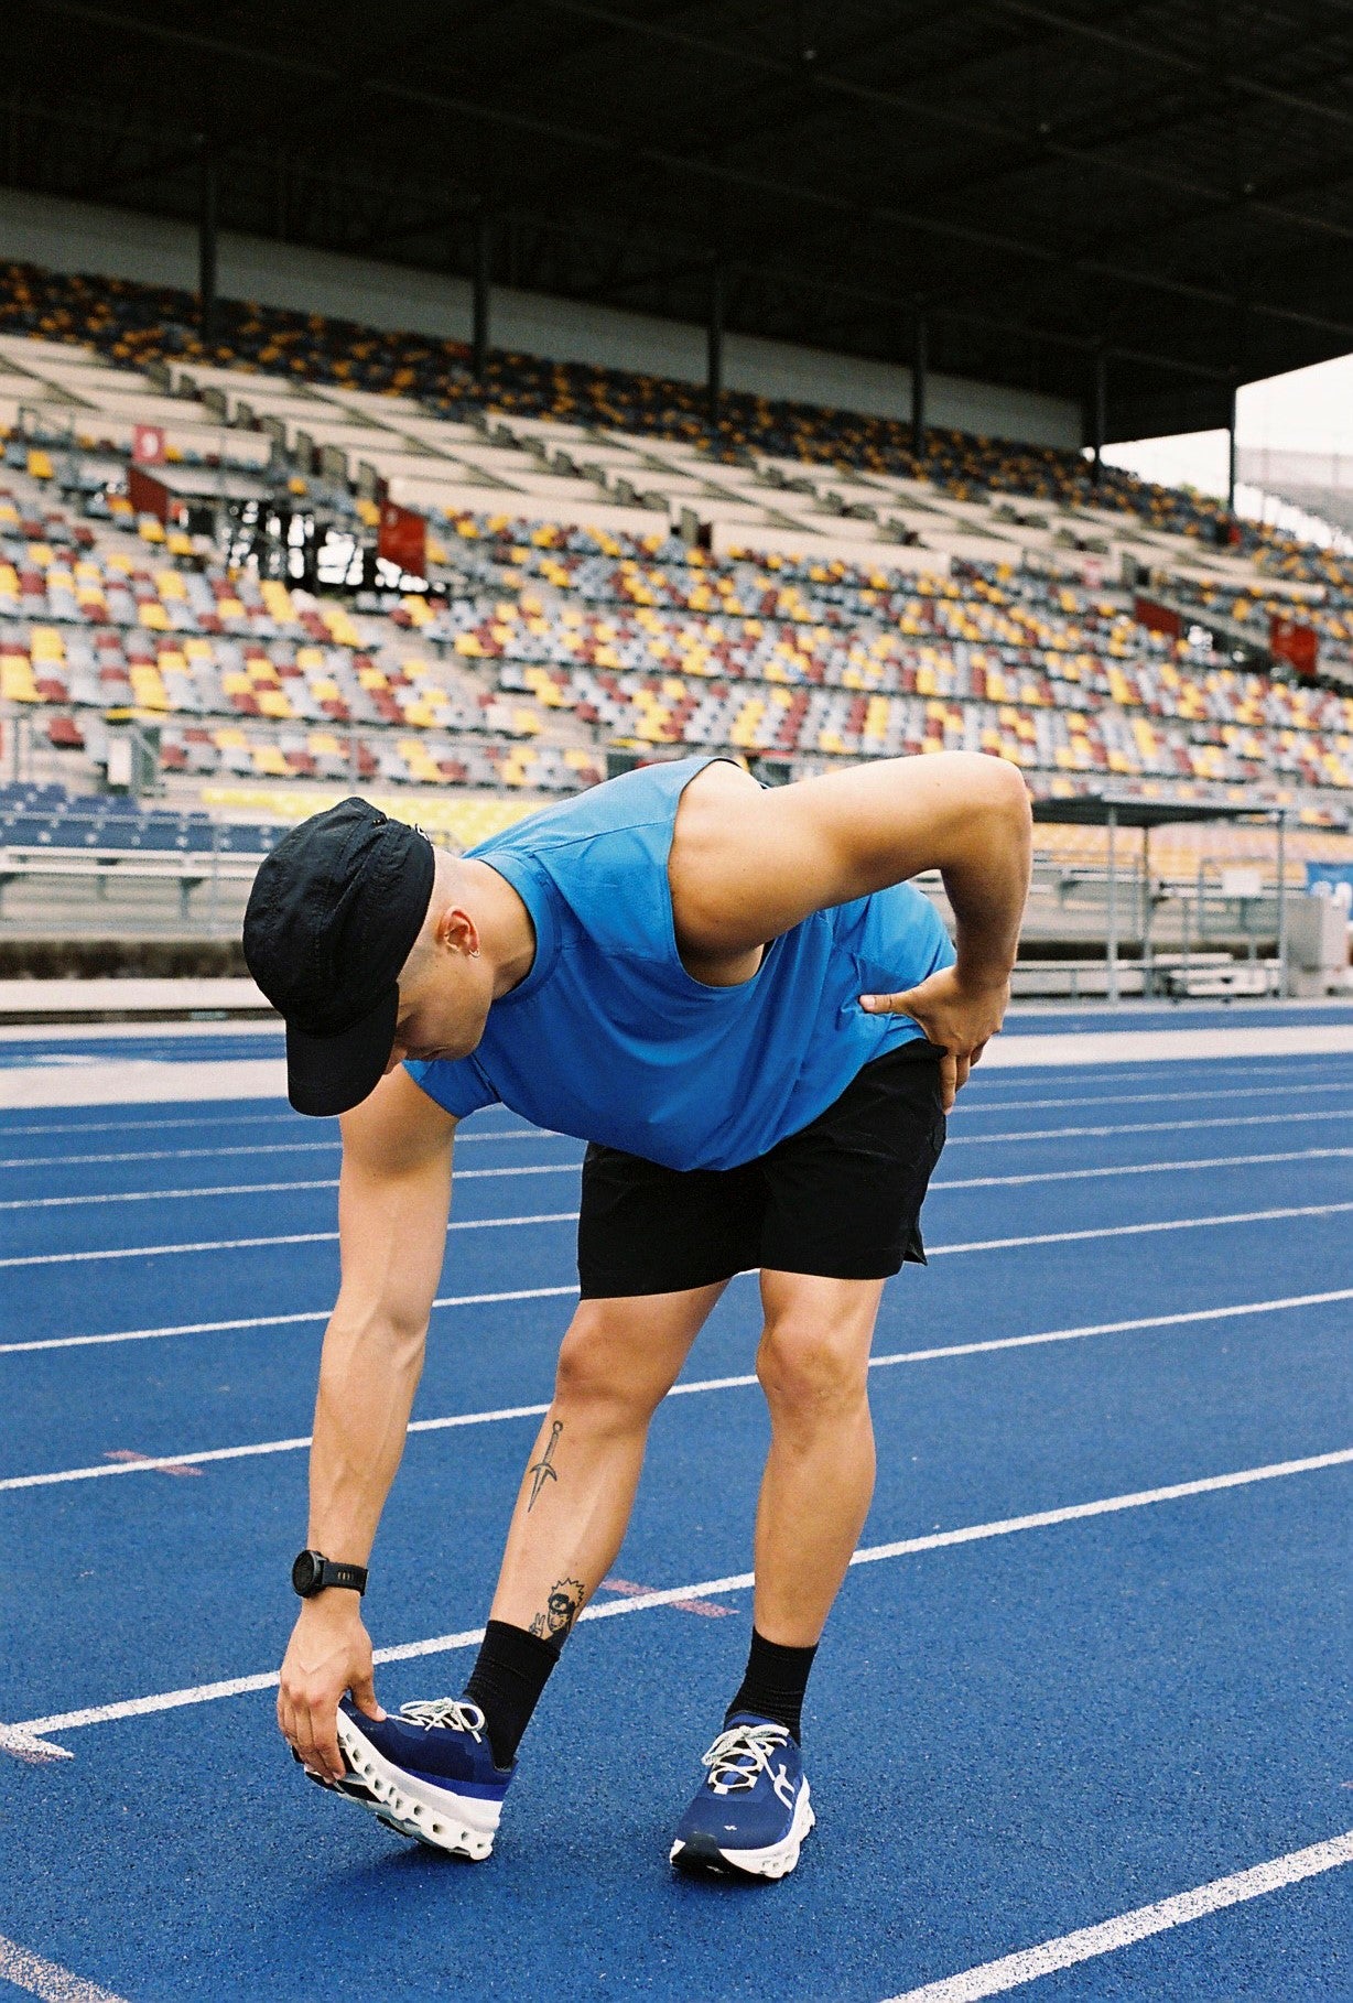
M 599 747 L 539 741 L 567 713 L 599 741 L 794 769 L 930 747 L 994 751 L 1034 781 L 1353 787 L 1353 699 L 1241 675 L 1120 599 L 1010 567 L 726 561 L 663 535 L 455 515 L 439 533 L 465 595 L 379 617 L 227 573 L 192 543 L 142 567 L 20 503 L 0 493 L 0 695 L 48 707 L 52 745 L 96 761 L 122 707 L 160 721 L 164 769 L 190 779 L 553 793 L 603 773 Z

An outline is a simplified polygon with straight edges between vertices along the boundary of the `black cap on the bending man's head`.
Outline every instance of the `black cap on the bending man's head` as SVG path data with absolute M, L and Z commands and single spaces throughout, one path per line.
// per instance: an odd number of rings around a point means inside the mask
M 435 877 L 433 845 L 365 799 L 301 821 L 263 859 L 245 959 L 287 1018 L 287 1098 L 299 1114 L 361 1106 L 391 1062 L 399 969 Z

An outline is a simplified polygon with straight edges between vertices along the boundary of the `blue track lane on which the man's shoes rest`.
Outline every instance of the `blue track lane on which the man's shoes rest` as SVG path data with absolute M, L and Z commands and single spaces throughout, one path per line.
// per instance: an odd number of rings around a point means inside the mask
M 389 1991 L 393 1965 L 409 1987 L 535 2003 L 543 1961 L 555 1993 L 587 2003 L 663 1993 L 678 1965 L 686 1993 L 878 2003 L 1092 1923 L 1124 1889 L 1161 1897 L 1347 1827 L 1327 1761 L 1345 1664 L 1319 1592 L 1335 1544 L 1313 1494 L 1273 1482 L 1048 1532 L 1052 1568 L 1038 1536 L 856 1568 L 810 1693 L 822 1823 L 794 1883 L 792 1959 L 748 1955 L 746 1897 L 667 1877 L 744 1642 L 740 1622 L 673 1612 L 579 1628 L 483 1871 L 307 1789 L 261 1695 L 100 1727 L 74 1763 L 16 1767 L 6 1805 L 30 1871 L 0 1885 L 0 1927 L 124 1995 L 186 2003 L 295 1995 L 299 1911 L 313 1939 L 345 1943 L 325 1965 L 335 2003 Z M 1305 1677 L 1275 1709 L 1291 1652 Z M 142 1813 L 120 1813 L 146 1797 L 154 1841 Z M 74 1815 L 78 1903 L 62 1895 Z M 1313 1893 L 1303 1921 L 1277 1959 L 1263 1935 L 1249 1951 L 1233 1939 L 1227 1993 L 1329 1995 L 1333 1909 Z M 505 1927 L 513 1953 L 485 1957 Z

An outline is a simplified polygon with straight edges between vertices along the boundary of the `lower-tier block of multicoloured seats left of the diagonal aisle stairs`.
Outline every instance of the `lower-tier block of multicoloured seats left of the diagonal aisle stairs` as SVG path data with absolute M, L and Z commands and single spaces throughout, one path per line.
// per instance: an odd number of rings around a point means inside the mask
M 415 655 L 407 635 L 425 609 L 411 603 L 393 623 L 355 621 L 337 599 L 204 563 L 186 537 L 140 565 L 106 549 L 102 529 L 0 489 L 0 697 L 54 707 L 48 739 L 60 749 L 102 759 L 112 707 L 180 725 L 164 729 L 162 763 L 192 777 L 561 791 L 601 775 L 575 747 L 565 759 L 477 741 L 531 739 L 541 715 Z M 277 729 L 247 735 L 210 719 Z

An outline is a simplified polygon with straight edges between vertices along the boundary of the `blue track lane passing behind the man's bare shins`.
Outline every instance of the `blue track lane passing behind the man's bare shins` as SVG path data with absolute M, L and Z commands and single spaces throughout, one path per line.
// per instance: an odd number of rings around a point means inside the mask
M 1343 1446 L 1327 1386 L 1347 1370 L 1347 1302 L 1283 1316 L 1281 1358 L 1273 1326 L 1251 1318 L 876 1372 L 880 1482 L 864 1540 Z M 547 1368 L 539 1388 L 547 1396 Z M 483 1618 L 535 1424 L 409 1440 L 369 1596 L 379 1640 Z M 708 1484 L 712 1440 L 718 1500 Z M 702 1578 L 742 1572 L 764 1448 L 754 1386 L 669 1400 L 617 1570 L 653 1582 L 671 1578 L 673 1564 Z M 10 1654 L 0 1717 L 98 1703 L 144 1683 L 140 1664 L 150 1660 L 160 1689 L 239 1675 L 275 1658 L 291 1622 L 287 1566 L 305 1520 L 305 1454 L 231 1460 L 196 1480 L 8 1492 L 0 1520 L 16 1598 L 0 1644 Z M 222 1548 L 237 1554 L 229 1574 L 212 1558 Z M 54 1707 L 50 1664 L 70 1658 L 72 1628 L 82 1634 L 80 1687 Z

